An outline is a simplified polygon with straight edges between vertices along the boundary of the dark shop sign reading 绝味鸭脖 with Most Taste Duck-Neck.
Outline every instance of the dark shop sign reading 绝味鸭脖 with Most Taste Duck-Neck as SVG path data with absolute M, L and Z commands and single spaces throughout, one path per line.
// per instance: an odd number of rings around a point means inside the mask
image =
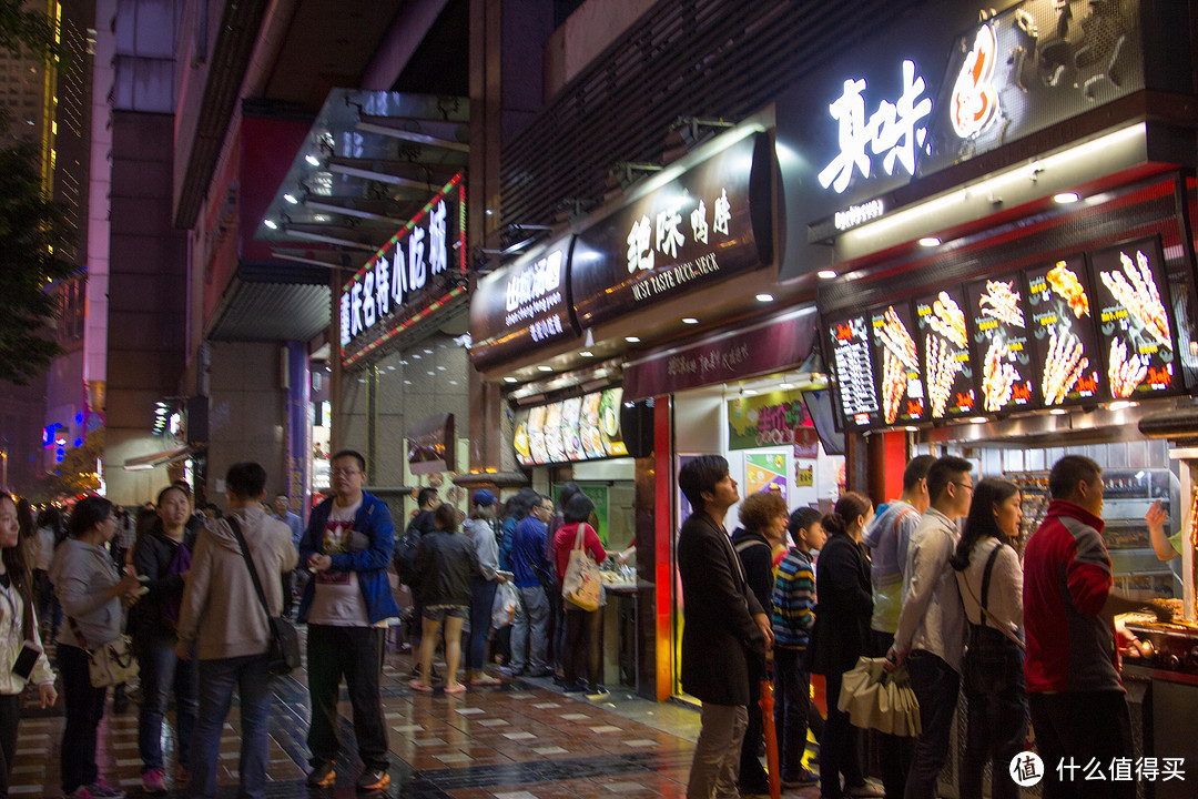
M 592 327 L 773 260 L 768 135 L 746 135 L 577 235 L 570 286 Z

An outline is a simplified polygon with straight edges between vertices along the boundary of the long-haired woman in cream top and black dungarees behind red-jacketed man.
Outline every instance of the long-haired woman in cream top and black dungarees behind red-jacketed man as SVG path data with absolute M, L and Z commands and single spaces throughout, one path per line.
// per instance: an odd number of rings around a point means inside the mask
M 987 477 L 974 489 L 964 534 L 949 563 L 969 621 L 962 672 L 969 721 L 961 757 L 961 795 L 981 799 L 982 770 L 991 761 L 991 797 L 1014 799 L 1019 787 L 1006 767 L 1028 732 L 1023 686 L 1023 569 L 1015 541 L 1023 522 L 1019 488 Z

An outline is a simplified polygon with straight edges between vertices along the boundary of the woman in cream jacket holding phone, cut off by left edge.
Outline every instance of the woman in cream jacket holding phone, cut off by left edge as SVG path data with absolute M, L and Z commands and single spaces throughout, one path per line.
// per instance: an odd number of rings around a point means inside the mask
M 17 757 L 17 725 L 20 721 L 20 695 L 26 683 L 35 683 L 42 707 L 58 700 L 54 672 L 42 652 L 42 638 L 34 615 L 34 592 L 29 568 L 20 555 L 20 532 L 17 503 L 0 491 L 0 797 L 8 795 L 8 780 Z M 36 659 L 31 670 L 16 673 L 16 664 L 26 642 L 32 644 Z M 25 655 L 28 659 L 29 655 Z

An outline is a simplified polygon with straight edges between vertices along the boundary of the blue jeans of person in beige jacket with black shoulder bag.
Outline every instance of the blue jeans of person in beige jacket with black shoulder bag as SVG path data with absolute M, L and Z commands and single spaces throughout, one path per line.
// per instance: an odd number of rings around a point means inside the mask
M 238 797 L 266 797 L 266 765 L 270 759 L 271 689 L 266 654 L 199 661 L 199 719 L 192 737 L 188 797 L 217 795 L 217 768 L 220 759 L 220 731 L 224 730 L 237 689 L 241 713 L 241 759 Z

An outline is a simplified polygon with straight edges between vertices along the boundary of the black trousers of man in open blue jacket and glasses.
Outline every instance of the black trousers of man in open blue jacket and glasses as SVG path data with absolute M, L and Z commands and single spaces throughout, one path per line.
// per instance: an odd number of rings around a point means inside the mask
M 353 707 L 353 734 L 358 757 L 368 769 L 391 764 L 387 725 L 382 716 L 382 648 L 385 630 L 374 627 L 308 625 L 308 695 L 311 727 L 308 730 L 309 763 L 315 768 L 337 759 L 337 695 L 345 688 Z

